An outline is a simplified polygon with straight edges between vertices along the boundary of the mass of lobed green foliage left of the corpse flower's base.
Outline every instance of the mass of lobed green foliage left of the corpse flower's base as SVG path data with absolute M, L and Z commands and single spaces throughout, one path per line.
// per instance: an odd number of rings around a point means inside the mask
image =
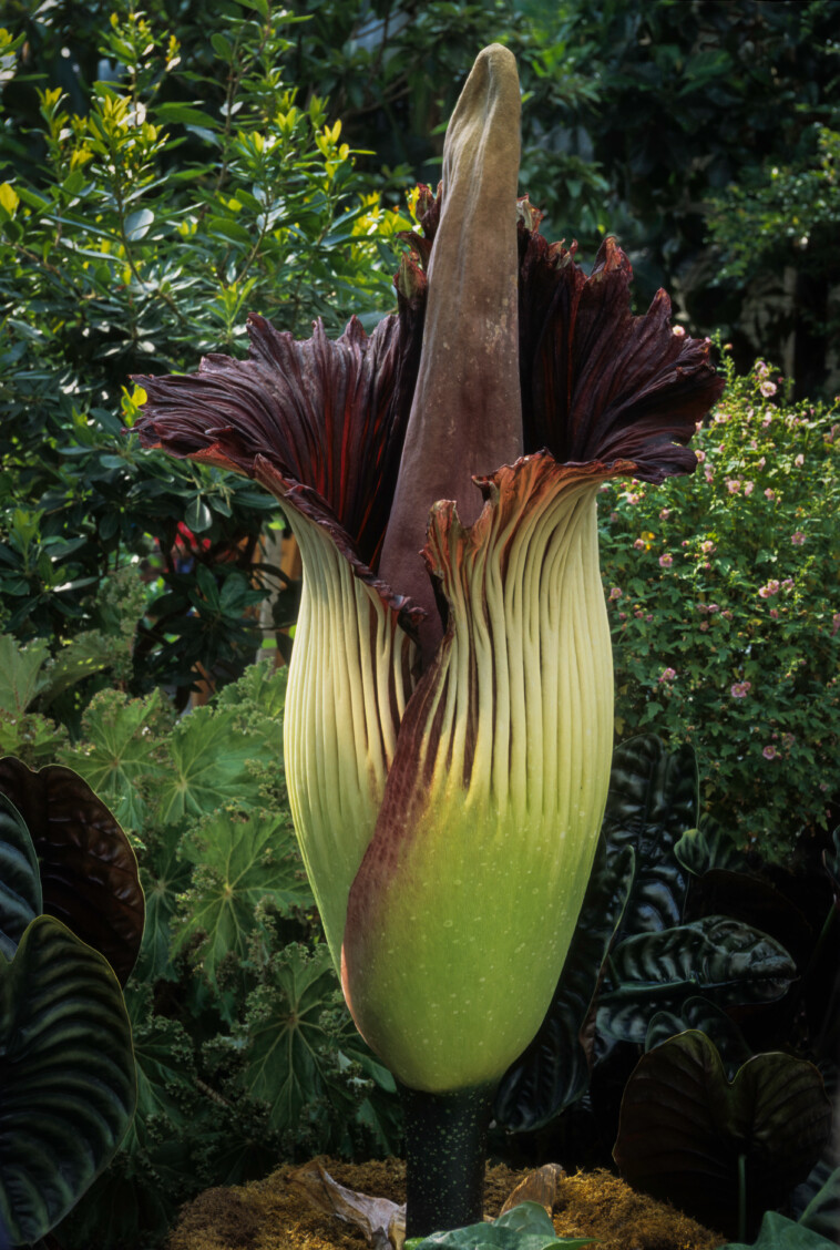
M 159 692 L 100 691 L 64 762 L 122 812 L 146 928 L 126 1004 L 138 1114 L 62 1225 L 134 1245 L 179 1202 L 280 1158 L 392 1152 L 392 1081 L 366 1051 L 318 936 L 285 794 L 285 670 L 255 665 L 176 720 Z M 288 944 L 292 945 L 289 946 Z

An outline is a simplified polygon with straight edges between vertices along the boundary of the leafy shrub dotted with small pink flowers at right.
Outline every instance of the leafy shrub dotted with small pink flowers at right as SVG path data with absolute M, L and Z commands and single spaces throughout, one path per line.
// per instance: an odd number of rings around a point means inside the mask
M 840 801 L 840 405 L 724 368 L 698 472 L 601 501 L 616 738 L 690 741 L 712 815 L 784 860 Z

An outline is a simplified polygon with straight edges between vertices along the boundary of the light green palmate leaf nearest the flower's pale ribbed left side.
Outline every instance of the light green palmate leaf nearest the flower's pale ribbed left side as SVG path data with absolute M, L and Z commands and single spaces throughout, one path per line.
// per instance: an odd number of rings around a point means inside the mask
M 202 816 L 226 802 L 244 809 L 260 802 L 259 782 L 248 769 L 260 751 L 254 736 L 238 729 L 232 709 L 196 708 L 175 726 L 169 750 L 172 770 L 158 790 L 156 816 L 162 824 Z

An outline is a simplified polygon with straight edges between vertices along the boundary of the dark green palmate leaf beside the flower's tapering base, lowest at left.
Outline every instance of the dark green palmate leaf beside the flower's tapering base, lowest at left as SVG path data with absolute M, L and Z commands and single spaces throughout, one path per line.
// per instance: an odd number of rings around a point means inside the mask
M 270 980 L 249 996 L 241 1084 L 268 1104 L 271 1129 L 299 1129 L 304 1109 L 335 1092 L 321 1018 L 335 1008 L 338 990 L 326 945 L 312 954 L 291 945 L 272 961 Z

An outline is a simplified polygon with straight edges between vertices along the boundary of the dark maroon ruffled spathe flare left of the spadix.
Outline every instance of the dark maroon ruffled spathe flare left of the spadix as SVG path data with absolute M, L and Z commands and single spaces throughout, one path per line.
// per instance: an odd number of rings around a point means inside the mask
M 416 631 L 422 609 L 374 571 L 420 355 L 422 308 L 401 300 L 368 336 L 352 318 L 301 342 L 249 318 L 248 360 L 209 355 L 198 374 L 135 376 L 142 446 L 244 472 L 321 525 L 354 574 Z M 368 558 L 366 558 L 368 556 Z

